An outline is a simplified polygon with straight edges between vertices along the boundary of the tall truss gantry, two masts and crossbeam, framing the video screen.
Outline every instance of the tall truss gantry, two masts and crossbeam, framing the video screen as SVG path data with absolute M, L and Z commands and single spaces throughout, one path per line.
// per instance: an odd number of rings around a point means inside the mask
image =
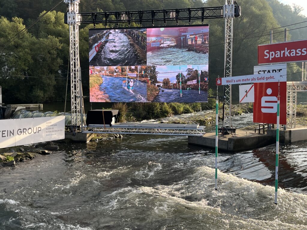
M 79 13 L 80 0 L 64 0 L 64 3 L 68 4 L 67 13 L 65 14 L 64 22 L 69 24 L 70 34 L 70 79 L 71 79 L 71 113 L 72 124 L 70 129 L 75 132 L 81 130 L 81 132 L 92 132 L 88 130 L 88 127 L 84 125 L 84 108 L 83 108 L 83 95 L 82 84 L 80 74 L 80 60 L 79 60 L 79 25 L 80 24 L 93 24 L 103 23 L 106 26 L 110 23 L 115 23 L 119 27 L 119 23 L 127 23 L 130 26 L 131 22 L 139 23 L 151 23 L 164 22 L 164 25 L 168 21 L 176 21 L 177 25 L 179 21 L 188 20 L 191 24 L 192 20 L 201 20 L 204 23 L 204 19 L 212 18 L 224 18 L 225 19 L 225 65 L 224 65 L 224 77 L 231 77 L 232 69 L 232 37 L 233 37 L 233 18 L 240 16 L 240 7 L 234 2 L 234 0 L 225 0 L 223 6 L 213 7 L 200 7 L 200 8 L 184 8 L 184 9 L 163 9 L 163 10 L 135 10 L 135 11 L 115 11 L 115 12 L 90 12 Z M 235 4 L 234 4 L 235 3 Z M 114 29 L 114 28 L 112 28 Z M 231 127 L 231 86 L 225 86 L 224 90 L 224 106 L 225 117 L 223 125 Z M 93 128 L 93 127 L 91 127 Z M 164 127 L 167 135 L 182 135 L 181 131 L 177 128 L 176 132 L 170 132 L 171 126 Z M 185 127 L 183 127 L 185 128 Z M 197 127 L 198 128 L 198 127 Z M 129 129 L 129 128 L 128 128 Z M 92 129 L 93 130 L 93 129 Z M 139 133 L 143 133 L 142 129 L 136 127 L 133 130 L 139 130 Z M 116 130 L 113 130 L 115 133 Z M 193 131 L 194 132 L 194 131 Z M 195 135 L 193 132 L 190 135 Z M 110 133 L 110 130 L 104 132 L 99 127 L 96 128 L 96 133 Z M 134 132 L 135 133 L 135 132 Z M 156 134 L 151 132 L 147 134 Z M 186 134 L 185 134 L 186 135 Z M 199 133 L 197 134 L 199 135 Z

